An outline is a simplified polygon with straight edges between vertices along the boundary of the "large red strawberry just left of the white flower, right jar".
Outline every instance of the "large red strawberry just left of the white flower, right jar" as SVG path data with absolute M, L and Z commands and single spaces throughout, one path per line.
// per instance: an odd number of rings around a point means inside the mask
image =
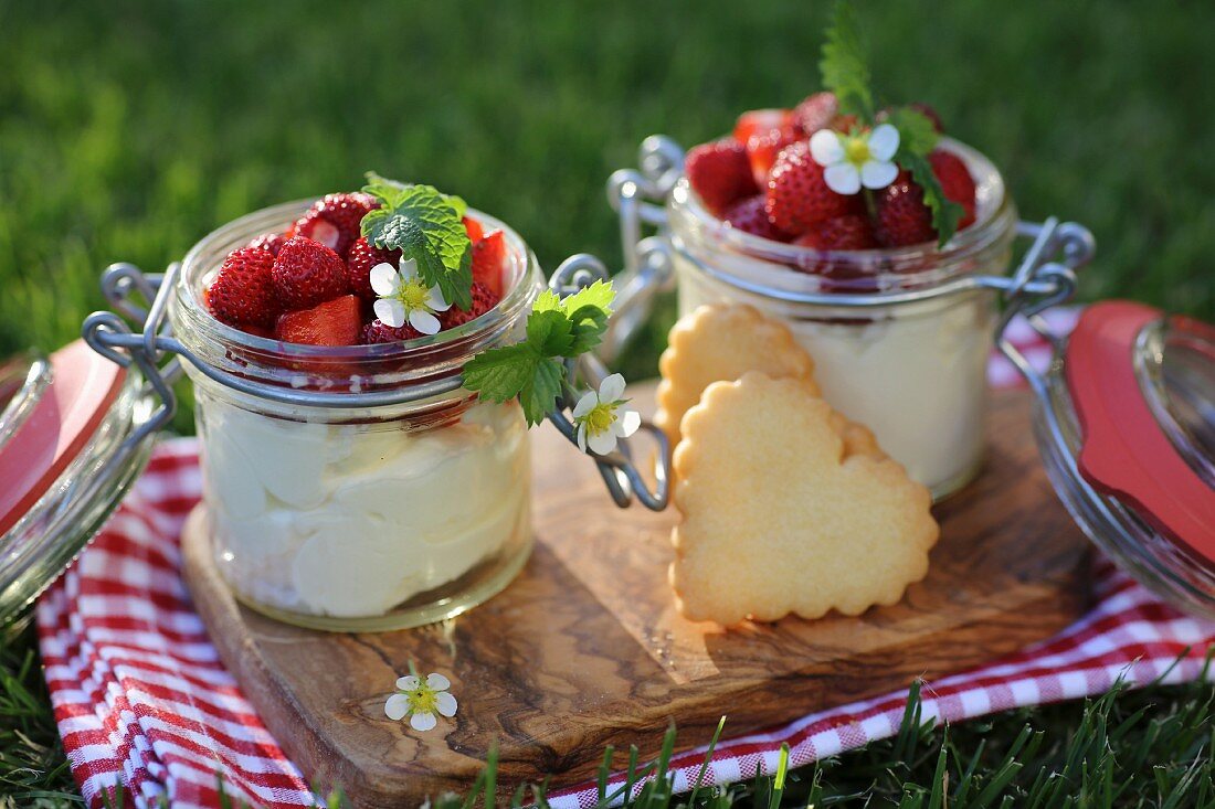
M 860 194 L 842 196 L 827 188 L 809 142 L 798 141 L 781 149 L 772 166 L 767 210 L 773 225 L 801 236 L 815 222 L 863 213 L 864 200 Z

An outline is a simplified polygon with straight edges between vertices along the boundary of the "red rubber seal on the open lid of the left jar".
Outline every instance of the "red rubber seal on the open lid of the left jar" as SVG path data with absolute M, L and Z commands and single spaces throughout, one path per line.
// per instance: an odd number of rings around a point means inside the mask
M 51 368 L 51 384 L 0 447 L 0 534 L 16 525 L 80 454 L 126 375 L 84 340 L 52 353 Z

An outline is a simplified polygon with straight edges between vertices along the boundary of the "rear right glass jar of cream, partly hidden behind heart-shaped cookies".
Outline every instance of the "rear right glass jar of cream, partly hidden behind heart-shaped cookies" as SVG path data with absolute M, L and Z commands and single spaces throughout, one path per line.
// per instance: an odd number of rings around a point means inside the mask
M 966 163 L 977 205 L 974 224 L 939 250 L 830 253 L 763 239 L 710 214 L 683 177 L 667 202 L 680 316 L 739 302 L 782 319 L 814 358 L 824 398 L 868 425 L 938 500 L 983 462 L 998 301 L 990 287 L 956 282 L 1002 275 L 1017 234 L 991 162 L 950 138 L 940 148 Z M 858 300 L 866 296 L 881 300 Z

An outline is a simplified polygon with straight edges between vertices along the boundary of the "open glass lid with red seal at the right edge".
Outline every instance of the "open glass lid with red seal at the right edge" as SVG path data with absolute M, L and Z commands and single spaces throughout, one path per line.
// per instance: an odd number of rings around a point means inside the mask
M 1022 369 L 1059 499 L 1141 584 L 1215 618 L 1215 329 L 1103 301 L 1056 346 L 1045 375 Z

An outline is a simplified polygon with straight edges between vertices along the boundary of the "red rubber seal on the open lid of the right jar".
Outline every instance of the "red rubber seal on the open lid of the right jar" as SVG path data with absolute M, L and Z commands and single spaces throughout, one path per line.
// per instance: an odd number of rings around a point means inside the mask
M 1148 408 L 1135 341 L 1163 312 L 1132 301 L 1089 306 L 1068 341 L 1064 373 L 1084 432 L 1080 474 L 1153 528 L 1215 564 L 1215 490 L 1198 476 Z

